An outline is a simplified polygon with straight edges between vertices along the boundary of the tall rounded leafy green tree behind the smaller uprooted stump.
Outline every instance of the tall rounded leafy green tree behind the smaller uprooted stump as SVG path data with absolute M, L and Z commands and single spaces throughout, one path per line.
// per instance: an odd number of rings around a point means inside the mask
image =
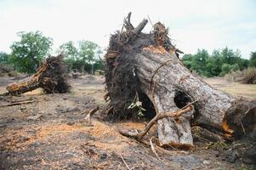
M 50 37 L 44 37 L 40 31 L 19 32 L 20 41 L 11 45 L 10 62 L 20 72 L 37 71 L 43 58 L 49 54 L 53 44 Z

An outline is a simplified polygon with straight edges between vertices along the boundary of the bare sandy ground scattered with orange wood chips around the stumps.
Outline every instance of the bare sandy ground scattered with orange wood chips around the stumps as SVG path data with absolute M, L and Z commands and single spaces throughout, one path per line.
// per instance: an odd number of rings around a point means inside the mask
M 14 82 L 0 78 L 0 93 Z M 227 93 L 256 96 L 256 86 L 206 80 Z M 170 150 L 156 158 L 151 148 L 117 132 L 118 127 L 142 129 L 146 122 L 105 122 L 99 112 L 92 125 L 85 120 L 96 105 L 105 105 L 103 77 L 71 80 L 69 94 L 43 94 L 41 89 L 2 98 L 0 105 L 31 99 L 26 105 L 0 108 L 0 169 L 243 169 L 225 161 L 208 143 L 195 142 L 186 152 Z M 151 132 L 155 133 L 155 132 Z M 147 139 L 147 138 L 146 138 Z M 148 139 L 147 139 L 148 140 Z M 127 164 L 127 165 L 126 165 Z M 250 166 L 249 166 L 250 167 Z M 252 168 L 252 167 L 251 167 Z

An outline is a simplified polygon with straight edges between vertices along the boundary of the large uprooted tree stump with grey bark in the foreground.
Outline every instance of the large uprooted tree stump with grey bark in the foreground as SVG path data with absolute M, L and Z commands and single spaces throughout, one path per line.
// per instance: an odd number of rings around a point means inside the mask
M 182 115 L 156 119 L 161 144 L 192 146 L 191 124 L 222 132 L 229 139 L 253 130 L 255 103 L 225 94 L 194 76 L 178 59 L 180 51 L 172 45 L 165 26 L 158 22 L 145 34 L 141 31 L 148 21 L 134 27 L 130 16 L 124 20 L 125 31 L 111 35 L 105 54 L 108 118 L 136 117 L 128 106 L 139 96 L 151 117 L 154 112 L 157 116 L 190 107 Z M 188 105 L 191 102 L 193 106 Z

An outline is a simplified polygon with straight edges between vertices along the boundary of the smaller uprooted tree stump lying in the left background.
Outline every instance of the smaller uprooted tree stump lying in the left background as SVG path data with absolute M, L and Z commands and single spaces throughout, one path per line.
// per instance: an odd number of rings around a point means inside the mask
M 9 94 L 23 94 L 37 88 L 43 88 L 47 94 L 66 93 L 71 88 L 63 54 L 45 59 L 37 72 L 20 82 L 7 86 Z

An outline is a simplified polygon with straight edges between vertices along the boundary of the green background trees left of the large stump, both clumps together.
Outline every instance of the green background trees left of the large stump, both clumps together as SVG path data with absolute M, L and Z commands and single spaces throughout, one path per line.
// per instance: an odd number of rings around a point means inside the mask
M 45 57 L 52 52 L 53 39 L 43 36 L 42 32 L 19 32 L 20 41 L 10 46 L 11 53 L 0 52 L 0 64 L 11 65 L 16 71 L 34 73 Z M 57 53 L 65 54 L 65 63 L 69 71 L 94 73 L 103 70 L 100 59 L 102 50 L 98 44 L 90 41 L 65 42 Z

